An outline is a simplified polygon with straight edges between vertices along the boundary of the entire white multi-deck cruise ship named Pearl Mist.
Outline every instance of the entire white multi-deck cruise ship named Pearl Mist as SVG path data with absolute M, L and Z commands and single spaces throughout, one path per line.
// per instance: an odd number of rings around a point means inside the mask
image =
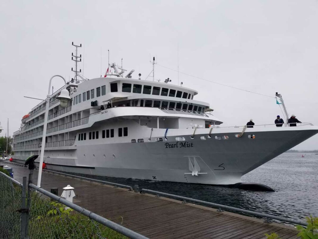
M 134 79 L 115 64 L 113 74 L 86 79 L 74 57 L 75 77 L 23 116 L 15 161 L 40 154 L 46 104 L 46 169 L 90 175 L 232 185 L 318 133 L 310 123 L 222 127 L 196 90 Z M 62 107 L 64 89 L 72 101 Z

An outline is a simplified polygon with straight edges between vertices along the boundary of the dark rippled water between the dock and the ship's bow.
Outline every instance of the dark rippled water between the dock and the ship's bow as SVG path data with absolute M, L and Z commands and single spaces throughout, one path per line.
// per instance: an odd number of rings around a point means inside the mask
M 310 214 L 318 217 L 318 155 L 305 153 L 303 158 L 301 155 L 302 153 L 284 153 L 242 177 L 243 182 L 265 184 L 276 192 L 252 192 L 210 185 L 90 177 L 125 185 L 138 184 L 145 189 L 293 219 L 304 219 Z

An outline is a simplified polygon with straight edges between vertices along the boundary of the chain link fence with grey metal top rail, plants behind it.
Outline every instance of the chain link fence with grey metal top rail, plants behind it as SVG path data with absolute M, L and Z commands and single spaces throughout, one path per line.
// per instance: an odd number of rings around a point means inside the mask
M 0 172 L 0 239 L 146 238 L 35 185 L 23 192 L 22 184 Z

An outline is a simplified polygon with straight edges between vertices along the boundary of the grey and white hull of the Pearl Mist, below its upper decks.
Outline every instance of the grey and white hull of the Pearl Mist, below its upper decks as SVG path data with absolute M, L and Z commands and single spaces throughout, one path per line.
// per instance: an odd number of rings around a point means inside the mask
M 275 127 L 273 131 L 247 128 L 240 138 L 235 137 L 240 134 L 235 132 L 238 129 L 213 130 L 211 138 L 207 137 L 210 129 L 198 129 L 201 134 L 196 134 L 194 139 L 190 139 L 192 134 L 178 135 L 184 137 L 185 141 L 172 141 L 175 136 L 169 136 L 168 141 L 145 139 L 143 143 L 81 145 L 72 151 L 72 157 L 45 157 L 44 161 L 47 169 L 66 172 L 231 185 L 241 182 L 242 175 L 316 134 L 318 127 Z M 254 139 L 249 136 L 251 134 L 255 136 Z M 202 140 L 201 136 L 204 136 L 205 140 Z M 228 136 L 228 139 L 223 136 Z M 61 155 L 63 150 L 56 153 Z M 193 168 L 189 164 L 192 164 Z M 195 168 L 199 169 L 197 176 L 195 172 L 192 175 Z

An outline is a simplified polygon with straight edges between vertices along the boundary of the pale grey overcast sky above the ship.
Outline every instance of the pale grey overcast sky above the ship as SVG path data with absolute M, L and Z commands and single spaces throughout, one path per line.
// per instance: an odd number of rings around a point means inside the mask
M 82 44 L 88 78 L 110 62 L 144 79 L 155 55 L 155 78 L 178 74 L 162 66 L 233 87 L 282 94 L 289 114 L 318 125 L 317 1 L 5 1 L 0 2 L 0 121 L 9 134 L 45 98 L 55 74 L 73 77 L 71 53 Z M 101 53 L 102 52 L 102 53 Z M 102 72 L 100 72 L 102 62 Z M 161 66 L 159 66 L 159 64 Z M 151 80 L 151 78 L 148 78 Z M 282 115 L 274 98 L 179 73 L 224 126 L 272 124 Z M 53 80 L 54 89 L 63 85 Z M 0 134 L 4 136 L 4 131 Z M 295 149 L 318 149 L 318 135 Z

